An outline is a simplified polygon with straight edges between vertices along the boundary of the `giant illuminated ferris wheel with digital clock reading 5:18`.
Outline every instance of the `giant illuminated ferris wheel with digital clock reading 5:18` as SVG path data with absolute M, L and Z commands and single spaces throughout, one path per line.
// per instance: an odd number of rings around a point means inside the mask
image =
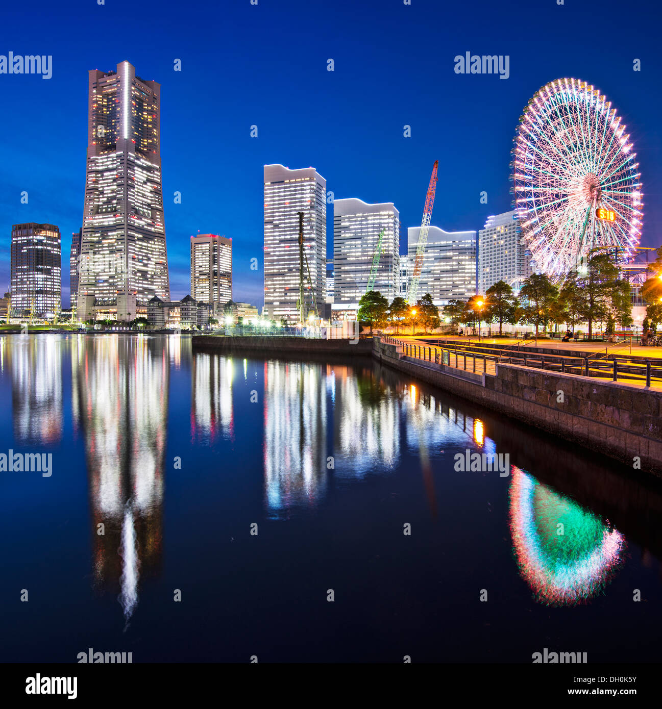
M 641 237 L 641 174 L 610 101 L 578 79 L 543 86 L 519 118 L 514 206 L 548 275 L 581 270 L 596 248 L 629 259 Z

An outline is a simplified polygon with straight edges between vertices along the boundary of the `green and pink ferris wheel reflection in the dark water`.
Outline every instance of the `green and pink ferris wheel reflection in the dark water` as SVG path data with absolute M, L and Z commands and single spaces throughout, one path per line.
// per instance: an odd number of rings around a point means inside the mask
M 513 466 L 511 475 L 510 530 L 520 574 L 540 603 L 586 603 L 622 564 L 623 535 L 523 470 Z

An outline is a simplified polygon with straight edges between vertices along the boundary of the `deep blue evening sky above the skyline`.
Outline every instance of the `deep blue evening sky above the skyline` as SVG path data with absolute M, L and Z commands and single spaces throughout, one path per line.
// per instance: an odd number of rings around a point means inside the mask
M 0 74 L 0 289 L 9 286 L 11 225 L 55 223 L 67 304 L 70 236 L 82 219 L 87 70 L 125 59 L 162 84 L 173 298 L 189 292 L 189 236 L 199 230 L 233 239 L 233 297 L 262 304 L 263 164 L 271 162 L 316 167 L 336 199 L 394 201 L 404 250 L 439 160 L 432 223 L 482 228 L 486 216 L 510 209 L 509 151 L 522 109 L 563 76 L 594 84 L 623 116 L 641 164 L 642 245 L 658 246 L 661 15 L 653 0 L 6 5 L 0 55 L 53 55 L 53 78 Z M 509 79 L 455 74 L 454 57 L 467 51 L 509 55 Z M 641 72 L 632 69 L 635 58 Z M 250 138 L 252 124 L 258 138 Z M 411 138 L 403 138 L 405 124 Z M 331 206 L 327 233 L 331 255 Z M 252 257 L 258 272 L 250 271 Z

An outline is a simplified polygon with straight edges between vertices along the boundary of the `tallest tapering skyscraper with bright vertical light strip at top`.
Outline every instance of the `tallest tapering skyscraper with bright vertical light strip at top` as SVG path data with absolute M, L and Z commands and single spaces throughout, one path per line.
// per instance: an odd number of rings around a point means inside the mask
M 129 62 L 89 72 L 87 177 L 79 318 L 93 306 L 133 320 L 153 296 L 170 301 L 161 185 L 160 84 Z

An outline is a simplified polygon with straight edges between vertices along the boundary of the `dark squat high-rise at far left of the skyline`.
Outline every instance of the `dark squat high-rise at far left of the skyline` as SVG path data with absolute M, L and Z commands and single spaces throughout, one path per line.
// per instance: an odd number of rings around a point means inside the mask
M 62 306 L 60 229 L 53 224 L 11 228 L 11 308 L 52 318 Z

